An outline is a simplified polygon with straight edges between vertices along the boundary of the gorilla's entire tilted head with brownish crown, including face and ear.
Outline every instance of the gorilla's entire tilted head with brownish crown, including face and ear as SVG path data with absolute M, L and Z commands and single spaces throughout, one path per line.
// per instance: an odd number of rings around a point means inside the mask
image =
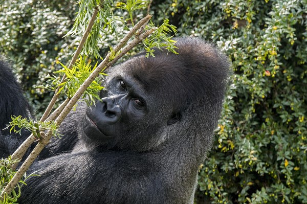
M 108 72 L 102 102 L 86 110 L 87 143 L 146 151 L 192 141 L 209 149 L 230 63 L 201 39 L 178 38 L 176 47 L 179 54 L 141 53 Z

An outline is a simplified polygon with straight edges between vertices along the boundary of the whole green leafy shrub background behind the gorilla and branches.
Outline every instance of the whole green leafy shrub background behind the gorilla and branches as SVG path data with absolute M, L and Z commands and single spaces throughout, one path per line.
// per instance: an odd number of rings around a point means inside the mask
M 0 3 L 0 52 L 11 59 L 39 114 L 51 94 L 33 85 L 76 49 L 76 38 L 62 36 L 77 6 L 29 2 Z M 168 17 L 178 36 L 216 43 L 233 64 L 195 203 L 307 203 L 307 1 L 158 0 L 150 12 L 159 24 Z M 100 47 L 116 38 L 102 36 Z

